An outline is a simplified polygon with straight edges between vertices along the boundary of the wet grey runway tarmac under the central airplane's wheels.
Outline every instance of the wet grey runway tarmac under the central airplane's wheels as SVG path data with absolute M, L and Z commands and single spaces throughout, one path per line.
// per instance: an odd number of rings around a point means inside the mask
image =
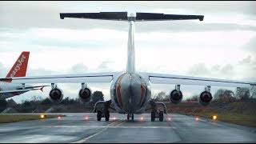
M 109 122 L 91 113 L 65 115 L 0 124 L 0 142 L 256 142 L 256 128 L 180 114 L 164 114 L 163 122 L 151 122 L 150 114 L 134 114 L 134 121 L 110 114 Z

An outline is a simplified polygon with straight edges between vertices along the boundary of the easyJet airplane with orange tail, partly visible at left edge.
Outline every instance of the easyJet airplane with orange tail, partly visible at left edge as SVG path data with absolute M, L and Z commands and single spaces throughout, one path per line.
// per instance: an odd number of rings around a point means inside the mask
M 10 69 L 9 73 L 6 75 L 6 78 L 14 77 L 26 77 L 27 64 L 30 58 L 29 51 L 23 51 L 19 55 L 17 61 L 14 63 L 14 66 Z M 40 87 L 40 88 L 38 88 Z M 6 98 L 14 97 L 19 94 L 26 93 L 30 90 L 41 90 L 44 86 L 25 86 L 25 84 L 13 84 L 8 81 L 0 81 L 0 100 Z

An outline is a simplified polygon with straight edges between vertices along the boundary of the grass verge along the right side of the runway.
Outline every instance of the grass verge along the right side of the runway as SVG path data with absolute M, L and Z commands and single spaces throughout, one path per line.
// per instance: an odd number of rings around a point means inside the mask
M 217 114 L 217 113 L 187 113 L 197 115 L 203 118 L 210 118 L 211 115 L 217 115 L 217 120 L 222 122 L 230 122 L 242 126 L 256 127 L 256 115 L 245 114 Z

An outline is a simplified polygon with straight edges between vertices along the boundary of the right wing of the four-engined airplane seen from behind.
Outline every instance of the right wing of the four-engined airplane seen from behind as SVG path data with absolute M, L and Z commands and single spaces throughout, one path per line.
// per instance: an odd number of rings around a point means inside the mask
M 184 84 L 184 85 L 199 85 L 199 86 L 256 86 L 256 82 L 234 81 L 218 78 L 202 78 L 191 77 L 174 74 L 156 74 L 156 73 L 141 73 L 151 83 L 157 84 Z

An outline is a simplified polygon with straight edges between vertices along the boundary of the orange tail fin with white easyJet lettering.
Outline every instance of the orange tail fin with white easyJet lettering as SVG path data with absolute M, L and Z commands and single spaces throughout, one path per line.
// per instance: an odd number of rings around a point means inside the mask
M 10 69 L 9 73 L 6 75 L 6 78 L 12 77 L 25 77 L 27 63 L 29 62 L 30 52 L 23 51 L 19 55 L 17 61 L 14 63 L 14 66 Z

